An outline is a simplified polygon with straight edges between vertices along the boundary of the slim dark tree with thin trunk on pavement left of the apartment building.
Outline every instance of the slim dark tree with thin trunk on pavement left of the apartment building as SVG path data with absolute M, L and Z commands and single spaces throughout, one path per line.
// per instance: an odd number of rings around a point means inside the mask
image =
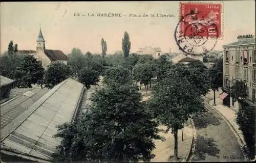
M 223 58 L 215 60 L 215 64 L 209 69 L 210 88 L 214 91 L 214 105 L 216 105 L 215 92 L 223 84 Z

